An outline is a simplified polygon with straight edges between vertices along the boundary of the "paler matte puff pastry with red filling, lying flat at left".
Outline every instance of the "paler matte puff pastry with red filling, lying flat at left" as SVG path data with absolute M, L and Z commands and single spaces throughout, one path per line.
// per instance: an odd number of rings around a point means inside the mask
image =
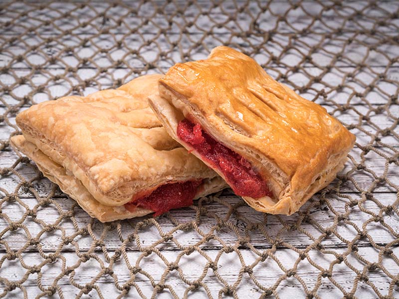
M 23 136 L 11 143 L 102 222 L 188 206 L 225 183 L 148 107 L 160 77 L 34 105 L 17 115 Z

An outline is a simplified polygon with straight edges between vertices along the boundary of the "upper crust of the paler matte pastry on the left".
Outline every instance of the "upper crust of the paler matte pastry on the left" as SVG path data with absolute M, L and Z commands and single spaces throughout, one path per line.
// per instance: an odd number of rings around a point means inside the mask
M 161 75 L 117 90 L 47 101 L 18 114 L 25 139 L 78 179 L 99 203 L 122 206 L 136 193 L 216 173 L 161 127 L 146 98 Z M 224 183 L 219 189 L 224 187 Z

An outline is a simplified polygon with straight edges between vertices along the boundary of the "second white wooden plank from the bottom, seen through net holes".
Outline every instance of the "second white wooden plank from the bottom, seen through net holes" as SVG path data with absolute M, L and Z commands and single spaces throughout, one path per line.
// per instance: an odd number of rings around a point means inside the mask
M 346 196 L 350 197 L 351 199 L 358 199 L 358 200 L 361 199 L 361 196 L 358 193 L 347 193 Z M 312 201 L 317 202 L 319 197 L 320 195 L 315 195 L 311 200 L 311 202 Z M 396 195 L 393 193 L 378 193 L 375 195 L 375 197 L 385 205 L 393 204 L 396 200 Z M 231 193 L 231 191 L 228 190 L 223 192 L 223 194 L 219 198 L 228 202 L 229 204 L 236 204 L 236 203 L 243 204 L 241 199 L 237 198 L 234 194 Z M 67 211 L 74 204 L 73 200 L 67 197 L 58 197 L 55 198 L 55 201 L 64 211 Z M 349 199 L 344 200 L 343 198 L 332 196 L 329 199 L 329 201 L 338 213 L 343 213 L 345 212 L 346 204 L 348 204 L 350 200 Z M 38 205 L 38 201 L 35 198 L 23 198 L 23 202 L 27 204 L 30 208 L 38 206 L 37 218 L 36 218 L 37 220 L 42 220 L 47 224 L 51 224 L 54 223 L 59 217 L 59 212 L 55 205 L 51 204 L 50 206 L 40 207 Z M 301 209 L 301 211 L 306 210 L 307 205 L 309 205 L 309 203 L 307 203 L 305 207 Z M 227 209 L 225 205 L 214 202 L 212 204 L 208 204 L 206 207 L 208 211 L 215 213 L 217 217 L 222 219 L 226 217 Z M 319 223 L 322 227 L 328 228 L 331 226 L 335 214 L 332 213 L 331 211 L 323 209 L 323 207 L 325 206 L 323 205 L 322 208 L 320 208 L 319 206 L 313 208 L 309 214 L 309 217 L 313 221 Z M 378 213 L 380 210 L 377 204 L 375 203 L 367 203 L 367 208 L 369 211 L 375 213 Z M 362 227 L 362 224 L 371 217 L 371 215 L 363 213 L 360 210 L 359 206 L 354 206 L 351 209 L 352 211 L 349 219 L 359 227 Z M 26 210 L 21 208 L 21 206 L 17 203 L 6 203 L 3 204 L 2 211 L 10 215 L 12 221 L 18 221 L 19 219 L 22 218 Z M 304 249 L 315 241 L 315 239 L 309 238 L 309 236 L 304 234 L 303 232 L 299 232 L 297 230 L 290 232 L 285 231 L 284 225 L 281 221 L 283 220 L 284 223 L 294 224 L 299 219 L 298 214 L 292 216 L 282 216 L 281 218 L 274 215 L 267 215 L 265 219 L 265 214 L 254 211 L 245 205 L 239 208 L 239 212 L 242 212 L 244 215 L 247 215 L 246 216 L 247 221 L 261 224 L 261 227 L 265 229 L 265 232 L 262 232 L 259 229 L 246 232 L 247 224 L 244 220 L 236 220 L 230 217 L 228 221 L 236 225 L 238 227 L 238 231 L 234 232 L 230 228 L 226 227 L 223 231 L 215 232 L 215 235 L 219 236 L 224 242 L 230 244 L 231 246 L 233 246 L 236 243 L 237 236 L 245 236 L 245 233 L 248 233 L 250 243 L 259 250 L 272 248 L 272 245 L 270 244 L 268 238 L 274 239 L 276 238 L 277 235 L 281 235 L 280 239 L 282 239 L 284 242 L 291 244 L 292 246 L 295 246 L 298 249 Z M 195 221 L 196 217 L 195 210 L 191 208 L 179 209 L 176 211 L 172 211 L 170 213 L 173 217 L 180 220 L 184 220 L 185 222 Z M 91 218 L 79 207 L 75 208 L 75 218 L 79 223 L 89 223 L 91 220 Z M 143 221 L 143 219 L 148 219 L 148 218 L 149 216 L 140 217 L 137 219 L 131 219 L 127 222 L 121 222 L 121 225 L 123 226 L 123 231 L 126 233 L 124 235 L 125 236 L 124 238 L 126 238 L 128 234 L 132 233 L 132 230 L 136 227 L 137 223 Z M 385 224 L 390 225 L 395 231 L 399 232 L 399 217 L 397 215 L 395 214 L 385 215 L 384 220 Z M 175 225 L 173 225 L 173 223 L 171 223 L 170 220 L 165 216 L 160 217 L 158 221 L 162 226 L 163 232 L 165 233 L 172 231 L 175 228 Z M 25 219 L 24 224 L 29 227 L 29 232 L 33 237 L 36 236 L 40 237 L 39 234 L 41 230 L 44 228 L 43 225 L 34 223 L 30 217 L 27 217 Z M 204 232 L 208 232 L 211 230 L 211 228 L 214 225 L 215 223 L 213 217 L 204 216 L 200 222 L 200 229 L 202 229 Z M 4 232 L 7 226 L 8 223 L 4 221 L 4 219 L 0 219 L 0 232 Z M 62 245 L 63 238 L 73 236 L 74 233 L 76 232 L 76 229 L 72 225 L 71 221 L 64 221 L 62 227 L 63 230 L 56 230 L 48 236 L 41 237 L 41 244 L 43 251 L 45 252 L 55 251 L 58 246 Z M 106 233 L 104 243 L 106 244 L 105 248 L 107 251 L 111 252 L 115 251 L 121 246 L 121 243 L 123 242 L 124 239 L 120 239 L 118 235 L 114 234 L 112 231 L 107 232 L 106 230 L 104 230 L 105 229 L 104 225 L 99 221 L 96 220 L 92 222 L 91 227 L 97 239 L 101 237 L 102 233 L 104 232 Z M 310 221 L 302 223 L 301 227 L 315 238 L 318 238 L 322 233 L 319 230 L 319 228 L 316 227 Z M 387 231 L 385 231 L 380 224 L 377 225 L 373 223 L 370 224 L 368 227 L 370 228 L 371 238 L 376 243 L 380 244 L 380 246 L 384 246 L 385 244 L 392 242 L 394 240 L 393 237 L 390 236 L 390 234 Z M 348 225 L 346 227 L 338 227 L 337 231 L 346 240 L 351 241 L 357 236 L 357 231 L 355 227 L 351 225 Z M 8 242 L 8 246 L 11 250 L 18 250 L 18 248 L 21 248 L 25 244 L 27 244 L 26 233 L 22 229 L 18 229 L 12 232 L 7 232 L 5 237 L 6 237 L 5 240 Z M 143 246 L 150 246 L 152 244 L 155 244 L 159 239 L 162 238 L 162 236 L 155 229 L 155 227 L 151 227 L 148 230 L 145 230 L 142 233 L 138 233 L 137 235 L 135 235 L 135 238 L 137 238 L 136 241 L 138 240 L 138 242 Z M 179 240 L 182 246 L 191 246 L 200 242 L 202 236 L 200 236 L 193 230 L 191 231 L 191 233 L 178 231 L 176 232 L 176 238 Z M 76 241 L 77 245 L 82 251 L 89 250 L 90 247 L 96 242 L 95 240 L 93 241 L 91 236 L 85 236 L 85 237 L 78 236 L 76 238 Z M 359 247 L 372 247 L 370 245 L 370 241 L 367 238 L 359 240 L 357 244 Z M 345 243 L 343 240 L 340 240 L 337 236 L 331 236 L 330 238 L 323 241 L 323 246 L 333 250 L 346 249 L 347 243 Z M 173 242 L 162 244 L 157 248 L 166 251 L 180 250 L 177 244 L 174 244 Z M 222 249 L 222 244 L 220 244 L 217 240 L 213 240 L 211 242 L 206 243 L 205 245 L 201 245 L 201 248 L 203 248 L 204 250 L 214 250 L 214 249 L 220 250 Z M 73 251 L 74 246 L 72 245 L 64 246 L 63 249 Z M 35 249 L 34 248 L 26 249 L 27 252 L 32 250 Z M 98 248 L 97 250 L 101 251 L 100 248 Z M 129 243 L 127 246 L 127 250 L 139 251 L 135 242 Z

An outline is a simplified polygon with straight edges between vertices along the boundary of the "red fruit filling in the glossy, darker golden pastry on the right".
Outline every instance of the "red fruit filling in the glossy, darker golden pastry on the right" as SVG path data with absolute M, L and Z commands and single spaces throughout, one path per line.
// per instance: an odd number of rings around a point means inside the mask
M 199 124 L 194 125 L 184 119 L 179 122 L 177 135 L 195 149 L 206 163 L 223 173 L 235 194 L 252 198 L 272 197 L 265 180 L 252 168 L 251 163 L 214 140 Z

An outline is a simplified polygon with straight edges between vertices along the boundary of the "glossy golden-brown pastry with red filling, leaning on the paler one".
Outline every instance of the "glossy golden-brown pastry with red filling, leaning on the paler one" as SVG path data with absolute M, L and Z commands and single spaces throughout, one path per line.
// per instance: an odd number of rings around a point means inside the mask
M 323 107 L 228 47 L 176 64 L 159 93 L 150 106 L 168 133 L 258 211 L 296 212 L 335 178 L 355 143 Z

